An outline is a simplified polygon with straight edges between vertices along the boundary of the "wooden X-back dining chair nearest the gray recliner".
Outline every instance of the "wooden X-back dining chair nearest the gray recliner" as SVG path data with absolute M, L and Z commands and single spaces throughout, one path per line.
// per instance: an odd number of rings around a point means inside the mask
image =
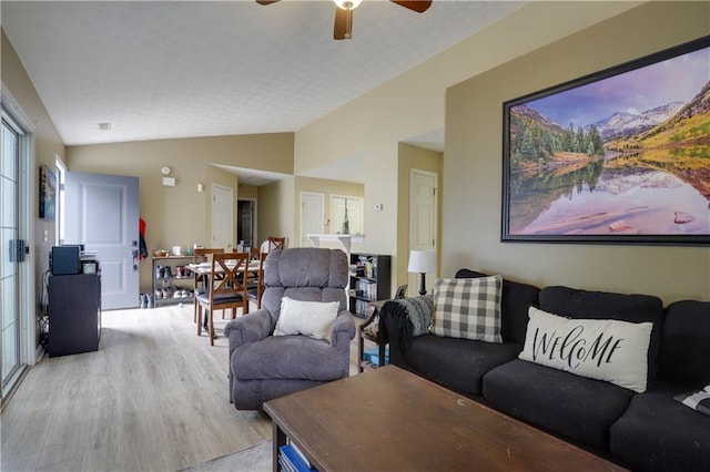
M 214 311 L 231 310 L 232 319 L 236 318 L 236 309 L 248 312 L 246 299 L 246 273 L 248 269 L 247 253 L 214 253 L 212 269 L 207 280 L 209 291 L 195 297 L 197 317 L 202 319 L 202 310 L 209 310 L 210 343 L 214 346 Z M 202 336 L 202 324 L 197 322 L 197 336 Z

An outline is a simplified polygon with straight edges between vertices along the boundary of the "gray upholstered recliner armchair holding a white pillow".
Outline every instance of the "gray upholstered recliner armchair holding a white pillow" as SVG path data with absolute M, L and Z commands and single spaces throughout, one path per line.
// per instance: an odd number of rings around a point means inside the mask
M 349 374 L 355 322 L 346 310 L 347 256 L 339 249 L 276 249 L 264 263 L 262 308 L 231 320 L 230 401 L 237 410 L 263 403 Z M 283 297 L 302 301 L 337 301 L 337 316 L 326 339 L 274 336 Z

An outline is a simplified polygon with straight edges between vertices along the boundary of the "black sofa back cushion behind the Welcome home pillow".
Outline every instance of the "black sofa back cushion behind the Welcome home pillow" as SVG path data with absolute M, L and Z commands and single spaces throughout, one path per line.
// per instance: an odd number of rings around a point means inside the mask
M 627 295 L 588 291 L 569 287 L 546 287 L 540 290 L 540 309 L 568 318 L 619 319 L 653 324 L 648 349 L 648 377 L 658 376 L 663 302 L 650 295 Z

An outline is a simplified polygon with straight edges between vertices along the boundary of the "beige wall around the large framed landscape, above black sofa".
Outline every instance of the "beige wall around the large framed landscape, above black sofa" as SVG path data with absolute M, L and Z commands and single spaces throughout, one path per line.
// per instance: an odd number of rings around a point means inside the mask
M 707 35 L 709 18 L 708 2 L 649 2 L 452 88 L 443 274 L 470 267 L 538 286 L 710 300 L 708 247 L 499 242 L 503 102 Z

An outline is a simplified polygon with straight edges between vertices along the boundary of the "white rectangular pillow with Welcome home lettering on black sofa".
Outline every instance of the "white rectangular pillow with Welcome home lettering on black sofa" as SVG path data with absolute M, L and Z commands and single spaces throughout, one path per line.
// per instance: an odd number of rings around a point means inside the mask
M 520 359 L 646 391 L 652 322 L 564 318 L 535 307 L 528 315 Z

